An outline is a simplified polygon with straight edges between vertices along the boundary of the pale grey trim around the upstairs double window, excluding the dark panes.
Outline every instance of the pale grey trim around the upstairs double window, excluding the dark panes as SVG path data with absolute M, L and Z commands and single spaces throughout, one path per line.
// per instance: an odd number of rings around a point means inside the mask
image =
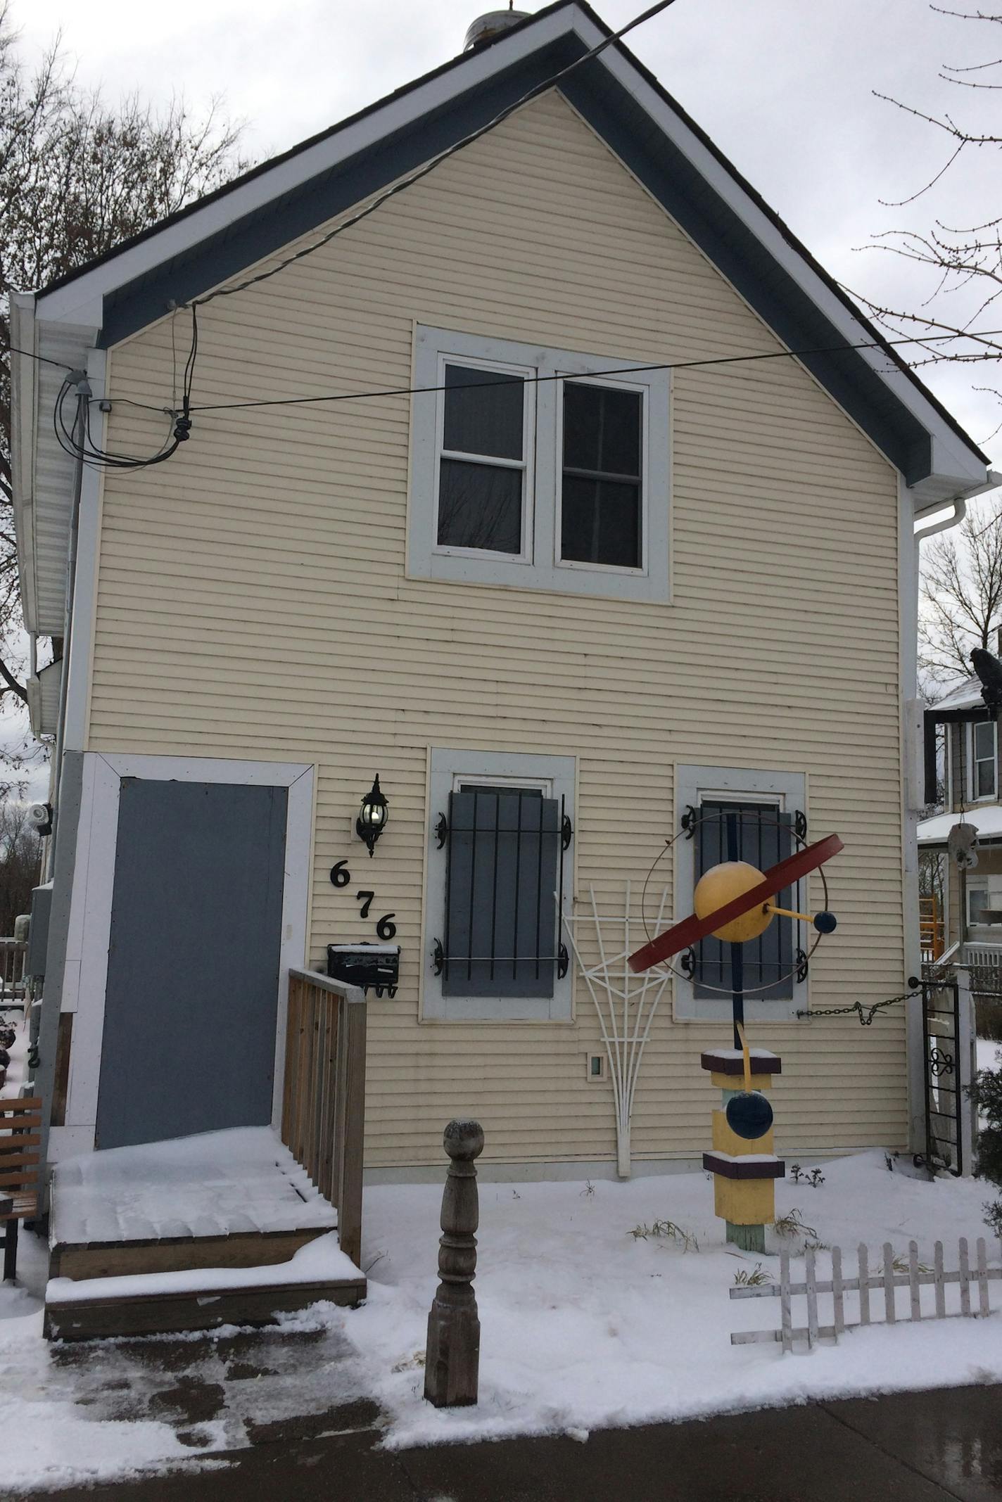
M 443 359 L 482 366 L 532 371 L 544 377 L 527 385 L 526 401 L 535 406 L 535 457 L 526 472 L 526 557 L 476 548 L 437 545 L 437 490 L 445 410 Z M 595 377 L 595 385 L 644 392 L 643 515 L 644 566 L 622 569 L 607 563 L 563 562 L 559 556 L 560 478 L 563 467 L 559 380 L 584 380 L 592 371 L 620 374 Z M 635 376 L 632 374 L 635 371 Z M 410 487 L 407 506 L 407 575 L 460 584 L 544 589 L 599 598 L 667 601 L 670 535 L 670 371 L 650 371 L 638 360 L 608 354 L 553 350 L 487 335 L 415 324 L 410 409 Z M 428 388 L 424 391 L 422 388 Z M 436 388 L 434 392 L 431 388 Z M 490 463 L 490 460 L 487 460 Z

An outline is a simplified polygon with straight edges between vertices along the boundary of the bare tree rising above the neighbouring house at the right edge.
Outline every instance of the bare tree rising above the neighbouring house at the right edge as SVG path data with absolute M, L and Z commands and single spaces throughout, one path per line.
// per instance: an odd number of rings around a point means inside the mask
M 922 545 L 919 667 L 927 689 L 970 676 L 970 652 L 994 652 L 1002 622 L 1002 503 Z

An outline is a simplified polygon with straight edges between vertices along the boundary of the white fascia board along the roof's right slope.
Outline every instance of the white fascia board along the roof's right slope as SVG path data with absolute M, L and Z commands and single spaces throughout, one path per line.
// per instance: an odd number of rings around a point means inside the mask
M 587 47 L 598 47 L 602 41 L 599 29 L 577 12 L 575 30 Z M 602 62 L 619 84 L 626 89 L 637 104 L 655 120 L 678 149 L 693 162 L 700 176 L 720 194 L 738 218 L 751 230 L 772 258 L 796 281 L 810 296 L 814 305 L 831 320 L 834 327 L 850 344 L 864 344 L 873 339 L 871 332 L 856 318 L 843 300 L 835 296 L 831 287 L 804 260 L 789 240 L 777 230 L 769 216 L 754 203 L 730 173 L 721 165 L 717 156 L 676 116 L 655 89 L 637 72 L 622 53 L 610 47 L 602 53 Z M 880 348 L 859 350 L 862 359 L 877 376 L 894 391 L 894 395 L 912 412 L 933 439 L 933 470 L 937 475 L 957 479 L 960 485 L 966 481 L 970 485 L 984 481 L 985 464 L 963 443 L 963 440 L 943 422 L 940 415 L 922 392 L 897 368 L 888 354 Z

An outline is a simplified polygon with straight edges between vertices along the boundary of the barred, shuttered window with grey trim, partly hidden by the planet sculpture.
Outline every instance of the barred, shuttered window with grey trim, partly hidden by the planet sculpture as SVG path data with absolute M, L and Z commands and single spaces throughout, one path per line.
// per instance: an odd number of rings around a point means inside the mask
M 798 772 L 678 766 L 676 829 L 691 828 L 691 837 L 684 832 L 675 843 L 676 918 L 693 910 L 696 883 L 720 861 L 747 861 L 765 871 L 798 849 L 795 831 L 804 831 L 805 793 L 807 780 Z M 807 892 L 792 888 L 775 901 L 798 909 Z M 744 945 L 750 1021 L 786 1021 L 807 1008 L 808 978 L 798 963 L 810 946 L 804 928 L 790 918 L 774 918 L 759 939 Z M 678 969 L 687 966 L 688 978 L 675 981 L 676 1020 L 727 1021 L 732 1015 L 727 945 L 703 939 L 679 957 Z

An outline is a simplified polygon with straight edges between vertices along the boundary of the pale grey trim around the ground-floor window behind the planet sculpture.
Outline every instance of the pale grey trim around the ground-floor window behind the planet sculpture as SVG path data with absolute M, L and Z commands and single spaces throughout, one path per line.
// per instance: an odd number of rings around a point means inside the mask
M 783 813 L 799 808 L 807 813 L 807 777 L 804 772 L 766 772 L 733 766 L 676 766 L 675 769 L 675 828 L 687 808 L 699 808 L 705 799 L 760 798 L 775 802 Z M 675 841 L 675 922 L 693 912 L 693 889 L 696 885 L 696 841 L 685 837 Z M 807 1009 L 808 981 L 793 981 L 793 996 L 789 1000 L 759 1000 L 748 997 L 745 1017 L 748 1021 L 792 1021 L 798 1011 Z M 676 973 L 673 982 L 673 1017 L 676 1021 L 730 1021 L 733 1014 L 729 996 L 696 999 L 690 979 Z

